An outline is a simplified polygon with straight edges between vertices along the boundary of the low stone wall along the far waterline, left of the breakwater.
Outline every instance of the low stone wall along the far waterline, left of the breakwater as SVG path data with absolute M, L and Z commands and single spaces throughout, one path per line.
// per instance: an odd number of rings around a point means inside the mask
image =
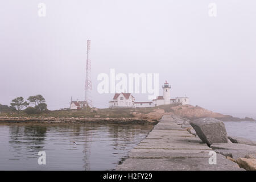
M 56 118 L 56 117 L 42 117 L 42 118 L 28 118 L 28 117 L 2 117 L 0 123 L 119 123 L 119 124 L 156 124 L 158 120 L 147 118 Z

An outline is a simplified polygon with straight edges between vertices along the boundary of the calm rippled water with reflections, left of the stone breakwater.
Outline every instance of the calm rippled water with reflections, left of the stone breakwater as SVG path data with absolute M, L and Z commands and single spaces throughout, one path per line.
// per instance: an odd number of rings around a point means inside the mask
M 0 170 L 112 170 L 152 127 L 0 125 Z M 39 151 L 46 152 L 46 165 L 38 164 Z

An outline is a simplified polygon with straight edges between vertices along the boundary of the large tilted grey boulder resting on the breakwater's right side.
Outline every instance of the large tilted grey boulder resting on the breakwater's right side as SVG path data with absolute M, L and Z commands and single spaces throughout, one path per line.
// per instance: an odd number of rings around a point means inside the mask
M 190 122 L 198 137 L 210 146 L 212 143 L 227 143 L 228 135 L 222 121 L 214 118 L 200 118 Z

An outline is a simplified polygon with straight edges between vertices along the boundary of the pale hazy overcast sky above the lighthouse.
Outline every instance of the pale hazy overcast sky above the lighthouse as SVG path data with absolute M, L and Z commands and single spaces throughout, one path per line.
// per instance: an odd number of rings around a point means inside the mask
M 38 3 L 46 17 L 38 16 Z M 217 5 L 217 17 L 208 5 Z M 84 99 L 91 40 L 93 103 L 97 75 L 159 73 L 171 97 L 221 113 L 256 113 L 255 1 L 1 1 L 0 103 L 42 94 L 49 109 Z M 160 88 L 159 88 L 160 89 Z M 162 89 L 159 90 L 162 95 Z M 134 94 L 146 101 L 147 94 Z

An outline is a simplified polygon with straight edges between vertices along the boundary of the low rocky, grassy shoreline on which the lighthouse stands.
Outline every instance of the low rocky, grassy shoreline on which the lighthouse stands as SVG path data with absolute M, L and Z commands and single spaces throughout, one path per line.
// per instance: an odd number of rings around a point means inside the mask
M 190 120 L 197 118 L 216 118 L 221 121 L 255 121 L 253 118 L 238 118 L 232 115 L 214 113 L 200 106 L 161 105 L 140 108 L 108 108 L 94 110 L 55 110 L 40 114 L 2 113 L 0 123 L 40 122 L 40 123 L 157 123 L 163 115 L 174 114 Z

